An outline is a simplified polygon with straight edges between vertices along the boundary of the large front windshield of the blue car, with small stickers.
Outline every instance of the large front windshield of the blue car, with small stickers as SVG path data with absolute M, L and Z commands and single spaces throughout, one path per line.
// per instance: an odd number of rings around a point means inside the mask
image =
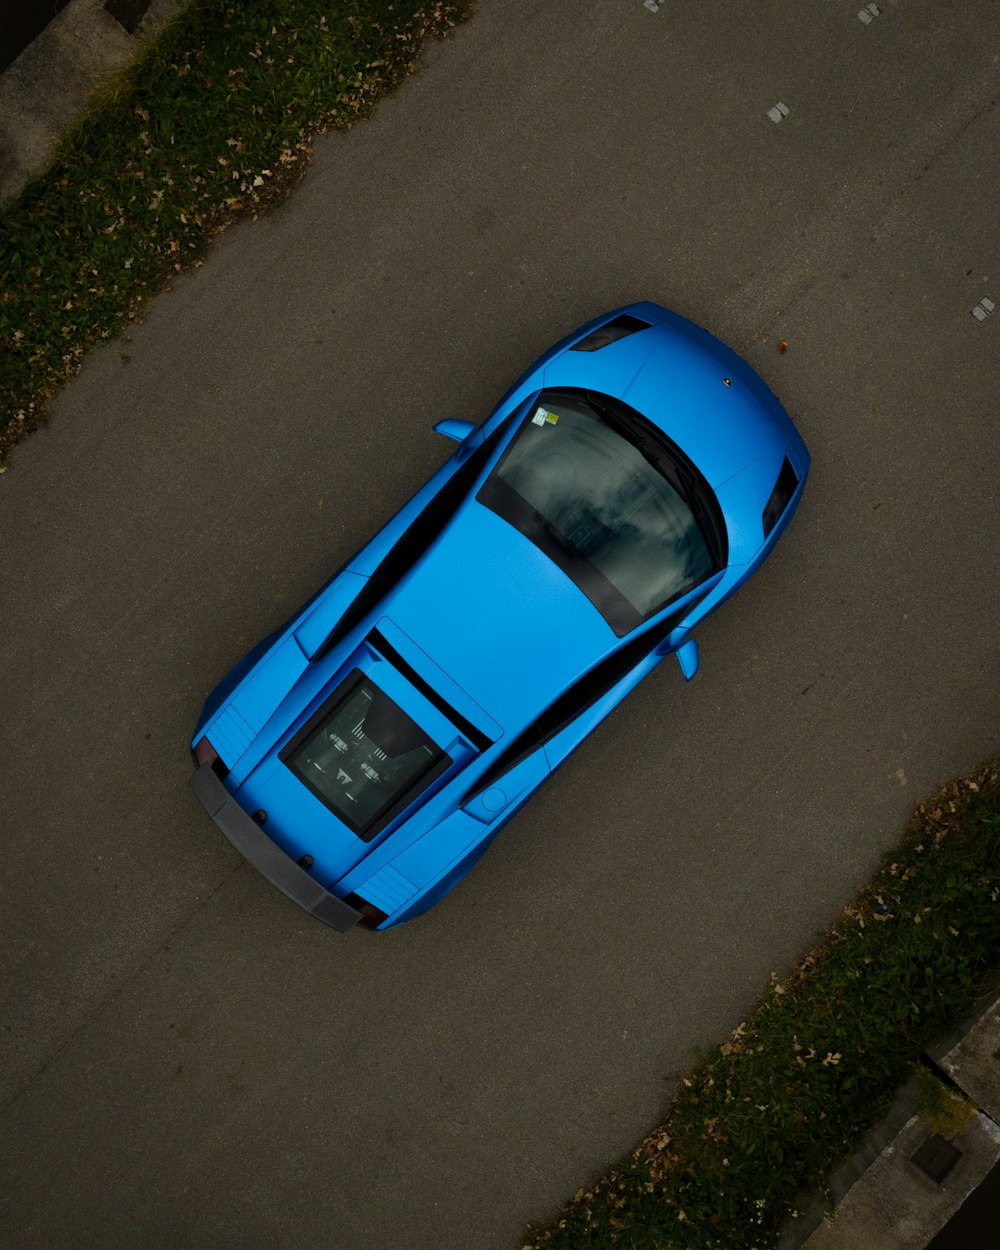
M 696 491 L 692 468 L 672 460 L 638 414 L 599 396 L 542 392 L 476 499 L 621 635 L 719 568 Z

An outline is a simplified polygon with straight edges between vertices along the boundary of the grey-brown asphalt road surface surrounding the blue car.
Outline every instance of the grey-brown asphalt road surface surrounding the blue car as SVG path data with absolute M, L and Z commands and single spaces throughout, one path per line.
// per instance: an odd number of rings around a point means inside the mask
M 859 8 L 481 0 L 14 456 L 0 1242 L 508 1250 L 1000 748 L 1000 18 Z M 690 686 L 426 918 L 338 936 L 188 789 L 200 702 L 435 420 L 636 298 L 782 398 L 799 515 Z

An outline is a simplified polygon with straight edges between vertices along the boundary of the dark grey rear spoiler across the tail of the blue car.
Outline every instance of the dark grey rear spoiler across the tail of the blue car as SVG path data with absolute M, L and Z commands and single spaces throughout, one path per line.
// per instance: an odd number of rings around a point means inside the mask
M 254 868 L 298 902 L 300 908 L 339 932 L 346 932 L 361 919 L 361 912 L 349 902 L 314 881 L 304 868 L 271 841 L 258 822 L 249 816 L 212 772 L 210 764 L 202 764 L 191 778 L 195 794 L 205 811 L 222 830 L 236 850 Z

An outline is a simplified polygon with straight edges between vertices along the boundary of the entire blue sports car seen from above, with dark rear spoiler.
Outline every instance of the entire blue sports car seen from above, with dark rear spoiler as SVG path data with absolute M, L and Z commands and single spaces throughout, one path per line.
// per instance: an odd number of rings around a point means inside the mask
M 788 525 L 809 452 L 750 366 L 656 304 L 551 348 L 209 698 L 194 789 L 334 929 L 446 894 Z

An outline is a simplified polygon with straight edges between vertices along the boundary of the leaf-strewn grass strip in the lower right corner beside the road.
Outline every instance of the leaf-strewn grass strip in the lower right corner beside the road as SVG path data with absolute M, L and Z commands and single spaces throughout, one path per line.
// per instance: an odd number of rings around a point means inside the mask
M 1000 955 L 1000 760 L 921 804 L 820 948 L 685 1079 L 664 1125 L 530 1250 L 756 1250 L 822 1189 Z M 932 1079 L 931 1079 L 932 1080 Z M 939 1124 L 965 1109 L 921 1094 Z

